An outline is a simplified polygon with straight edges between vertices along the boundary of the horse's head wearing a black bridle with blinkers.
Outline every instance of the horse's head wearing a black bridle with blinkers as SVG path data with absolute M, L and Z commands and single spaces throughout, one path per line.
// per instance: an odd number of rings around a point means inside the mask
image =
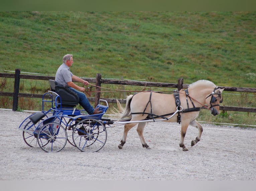
M 209 103 L 208 107 L 210 108 L 211 113 L 215 116 L 220 112 L 220 103 L 223 101 L 221 93 L 224 89 L 216 87 L 213 92 L 206 97 L 206 103 Z

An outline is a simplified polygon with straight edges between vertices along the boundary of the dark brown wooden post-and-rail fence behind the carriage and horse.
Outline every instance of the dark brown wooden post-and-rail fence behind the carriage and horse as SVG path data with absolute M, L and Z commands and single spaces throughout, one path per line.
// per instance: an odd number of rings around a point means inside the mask
M 0 92 L 0 96 L 12 96 L 13 97 L 13 107 L 12 110 L 16 111 L 18 108 L 18 98 L 19 97 L 31 97 L 31 98 L 42 98 L 42 94 L 25 94 L 19 93 L 19 83 L 20 79 L 33 79 L 33 80 L 54 80 L 55 77 L 52 76 L 36 76 L 36 75 L 22 75 L 20 74 L 20 69 L 15 70 L 15 74 L 0 73 L 2 78 L 14 78 L 14 91 L 13 92 Z M 101 84 L 115 84 L 115 85 L 130 85 L 130 86 L 147 86 L 147 87 L 163 87 L 163 88 L 175 88 L 178 90 L 187 89 L 188 84 L 183 84 L 183 79 L 178 79 L 177 84 L 169 83 L 154 83 L 154 82 L 138 82 L 131 80 L 108 80 L 102 79 L 101 74 L 97 74 L 95 79 L 82 78 L 89 83 L 96 84 L 95 97 L 88 97 L 89 101 L 94 101 L 95 106 L 99 99 L 104 99 L 109 103 L 116 103 L 116 98 L 104 98 L 101 97 Z M 221 87 L 225 88 L 224 91 L 229 92 L 248 92 L 256 93 L 256 88 L 236 88 L 236 87 Z M 125 103 L 126 99 L 117 99 L 120 103 Z M 203 108 L 203 107 L 202 107 Z M 252 107 L 234 107 L 234 106 L 220 106 L 220 110 L 226 111 L 243 111 L 243 112 L 256 112 L 256 108 Z

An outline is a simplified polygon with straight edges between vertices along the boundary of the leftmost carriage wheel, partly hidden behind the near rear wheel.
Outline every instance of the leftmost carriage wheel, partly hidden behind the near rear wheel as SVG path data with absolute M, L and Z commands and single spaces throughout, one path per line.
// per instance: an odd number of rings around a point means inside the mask
M 23 131 L 22 133 L 23 140 L 30 147 L 36 147 L 37 145 L 37 135 L 35 135 L 33 132 L 39 123 L 40 121 L 34 124 L 31 120 L 29 120 L 23 128 L 27 130 Z

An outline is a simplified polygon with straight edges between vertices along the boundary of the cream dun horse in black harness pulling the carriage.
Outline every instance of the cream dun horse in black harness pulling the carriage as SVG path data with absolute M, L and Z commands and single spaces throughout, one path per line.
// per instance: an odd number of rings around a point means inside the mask
M 221 95 L 223 90 L 224 89 L 217 87 L 211 81 L 199 80 L 190 84 L 186 90 L 176 90 L 173 94 L 145 91 L 128 95 L 125 109 L 120 113 L 119 119 L 130 115 L 131 119 L 129 123 L 124 125 L 123 137 L 118 148 L 123 148 L 128 131 L 138 124 L 137 132 L 142 146 L 146 149 L 150 149 L 143 137 L 143 130 L 147 119 L 164 119 L 163 121 L 165 122 L 181 123 L 179 146 L 182 147 L 183 151 L 188 151 L 187 147 L 184 145 L 184 137 L 188 125 L 198 129 L 196 139 L 191 141 L 191 146 L 194 146 L 200 141 L 203 132 L 203 127 L 196 120 L 201 107 L 206 107 L 213 115 L 218 115 L 220 103 L 223 101 Z M 172 115 L 176 117 L 172 117 Z

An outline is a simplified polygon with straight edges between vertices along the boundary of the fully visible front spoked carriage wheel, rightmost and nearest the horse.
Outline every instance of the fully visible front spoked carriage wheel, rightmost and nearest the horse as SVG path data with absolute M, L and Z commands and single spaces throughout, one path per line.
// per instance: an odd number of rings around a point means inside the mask
M 73 130 L 73 142 L 83 152 L 99 151 L 106 143 L 107 131 L 96 119 L 83 119 Z

